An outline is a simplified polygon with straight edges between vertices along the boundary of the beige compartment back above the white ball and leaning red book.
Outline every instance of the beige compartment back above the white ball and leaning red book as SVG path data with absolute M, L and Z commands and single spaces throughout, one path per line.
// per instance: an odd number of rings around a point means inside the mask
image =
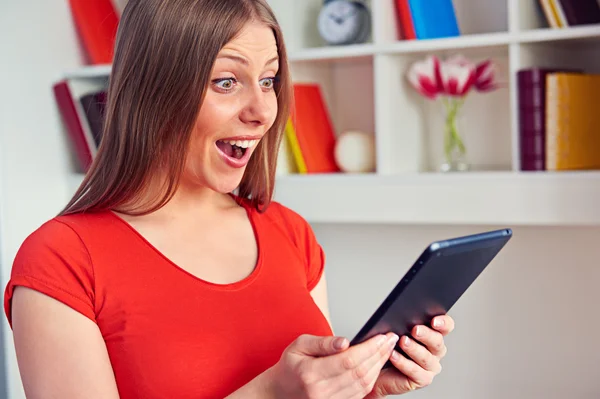
M 336 135 L 375 133 L 373 57 L 292 62 L 291 69 L 294 83 L 319 84 Z

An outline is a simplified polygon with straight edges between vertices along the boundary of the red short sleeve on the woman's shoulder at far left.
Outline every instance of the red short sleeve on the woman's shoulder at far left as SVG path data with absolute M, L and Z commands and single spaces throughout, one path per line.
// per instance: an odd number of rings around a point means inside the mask
M 79 235 L 52 219 L 19 248 L 4 292 L 4 311 L 12 327 L 11 301 L 17 286 L 46 294 L 95 321 L 94 273 Z

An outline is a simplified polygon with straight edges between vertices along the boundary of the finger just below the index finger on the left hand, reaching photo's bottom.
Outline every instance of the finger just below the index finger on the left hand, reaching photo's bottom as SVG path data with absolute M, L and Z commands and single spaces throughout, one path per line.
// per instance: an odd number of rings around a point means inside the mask
M 396 334 L 387 334 L 388 341 L 379 351 L 367 359 L 358 368 L 346 373 L 350 376 L 350 380 L 346 383 L 348 388 L 341 392 L 344 398 L 357 396 L 359 398 L 368 394 L 375 385 L 375 381 L 383 368 L 383 365 L 390 358 L 392 351 L 398 342 Z

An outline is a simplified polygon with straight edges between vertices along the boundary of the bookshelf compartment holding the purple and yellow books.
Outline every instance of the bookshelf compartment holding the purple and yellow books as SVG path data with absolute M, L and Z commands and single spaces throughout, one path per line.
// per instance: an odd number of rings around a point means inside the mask
M 523 43 L 515 47 L 515 75 L 519 70 L 535 68 L 598 74 L 599 50 L 600 43 L 588 40 Z M 586 150 L 597 146 L 595 111 L 578 102 L 580 95 L 590 96 L 589 90 L 582 90 L 576 81 L 561 80 L 560 86 L 552 85 L 554 89 L 550 92 L 546 82 L 540 77 L 534 80 L 529 75 L 522 87 L 515 84 L 515 132 L 518 138 L 515 169 L 564 173 L 566 170 L 597 168 L 594 159 L 597 157 Z M 550 98 L 556 101 L 550 101 Z M 597 94 L 584 102 L 586 105 L 596 103 Z

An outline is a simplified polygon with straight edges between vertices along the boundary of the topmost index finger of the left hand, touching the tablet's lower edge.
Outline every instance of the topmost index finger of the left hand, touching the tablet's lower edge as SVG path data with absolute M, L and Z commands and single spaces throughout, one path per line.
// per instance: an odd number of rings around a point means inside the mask
M 386 335 L 376 335 L 368 340 L 354 345 L 343 353 L 323 358 L 324 370 L 327 370 L 327 377 L 344 374 L 355 370 L 372 356 L 379 356 L 380 350 L 386 350 L 388 337 Z

